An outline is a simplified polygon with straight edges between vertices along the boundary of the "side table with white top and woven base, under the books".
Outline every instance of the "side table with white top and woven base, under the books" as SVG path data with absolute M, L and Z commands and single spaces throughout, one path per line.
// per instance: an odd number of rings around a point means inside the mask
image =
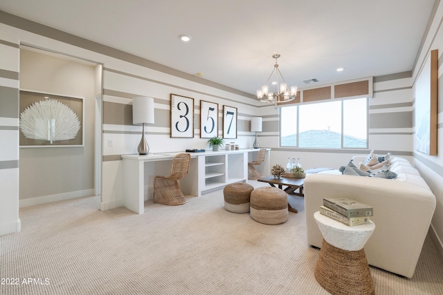
M 363 249 L 375 229 L 374 222 L 349 227 L 318 211 L 314 219 L 323 234 L 314 272 L 317 282 L 334 295 L 375 294 Z

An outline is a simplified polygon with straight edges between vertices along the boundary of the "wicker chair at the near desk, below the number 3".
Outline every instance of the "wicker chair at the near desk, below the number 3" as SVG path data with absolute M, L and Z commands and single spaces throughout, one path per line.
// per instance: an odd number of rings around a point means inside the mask
M 179 153 L 172 160 L 171 174 L 154 178 L 154 203 L 167 205 L 186 203 L 177 180 L 188 174 L 190 159 L 189 153 Z

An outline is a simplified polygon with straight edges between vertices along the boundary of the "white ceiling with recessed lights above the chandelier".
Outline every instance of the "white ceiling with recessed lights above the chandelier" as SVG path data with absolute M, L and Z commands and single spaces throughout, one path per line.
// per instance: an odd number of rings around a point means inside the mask
M 255 94 L 412 70 L 434 0 L 0 0 L 0 10 Z M 185 44 L 178 36 L 188 34 Z M 343 67 L 343 72 L 336 68 Z

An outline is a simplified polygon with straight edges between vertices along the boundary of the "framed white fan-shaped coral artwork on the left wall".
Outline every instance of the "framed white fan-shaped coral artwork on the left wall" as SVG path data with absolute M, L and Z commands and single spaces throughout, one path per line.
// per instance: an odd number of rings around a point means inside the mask
M 84 146 L 82 97 L 20 91 L 20 146 Z

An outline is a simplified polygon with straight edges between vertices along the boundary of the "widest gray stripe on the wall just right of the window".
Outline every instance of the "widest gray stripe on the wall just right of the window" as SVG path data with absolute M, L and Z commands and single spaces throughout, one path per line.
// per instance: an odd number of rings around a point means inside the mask
M 410 128 L 413 126 L 412 117 L 412 111 L 369 114 L 369 128 Z

